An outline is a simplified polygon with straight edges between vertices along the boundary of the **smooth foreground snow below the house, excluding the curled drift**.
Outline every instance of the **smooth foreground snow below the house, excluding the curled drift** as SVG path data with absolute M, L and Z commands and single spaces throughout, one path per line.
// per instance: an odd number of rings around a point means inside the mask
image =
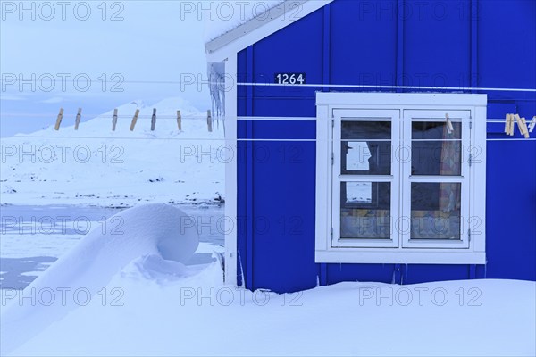
M 107 302 L 94 296 L 13 355 L 536 353 L 533 282 L 348 282 L 275 295 L 223 286 L 217 263 L 181 271 L 182 276 L 167 271 L 132 262 L 106 286 Z M 156 272 L 160 280 L 147 275 Z M 385 297 L 378 300 L 381 294 Z M 411 296 L 408 305 L 406 296 Z

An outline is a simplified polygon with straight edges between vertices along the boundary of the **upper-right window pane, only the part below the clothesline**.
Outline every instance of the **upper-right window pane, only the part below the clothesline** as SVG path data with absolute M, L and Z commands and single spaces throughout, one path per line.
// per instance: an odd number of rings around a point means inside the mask
M 461 141 L 414 141 L 411 144 L 412 175 L 459 176 L 462 174 Z

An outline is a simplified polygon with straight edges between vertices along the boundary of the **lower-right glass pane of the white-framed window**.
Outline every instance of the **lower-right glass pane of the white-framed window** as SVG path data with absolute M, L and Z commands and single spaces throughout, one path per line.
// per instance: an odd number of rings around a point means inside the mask
M 460 183 L 411 184 L 411 239 L 461 239 Z

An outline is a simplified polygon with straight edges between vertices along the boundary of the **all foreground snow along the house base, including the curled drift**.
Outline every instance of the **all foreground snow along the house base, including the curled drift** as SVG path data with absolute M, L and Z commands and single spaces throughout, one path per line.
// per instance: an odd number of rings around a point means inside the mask
M 123 235 L 96 229 L 23 292 L 1 290 L 2 353 L 536 353 L 534 282 L 347 282 L 287 295 L 249 292 L 224 285 L 217 260 L 184 264 L 197 233 L 181 226 L 187 216 L 176 208 L 140 205 L 113 217 L 124 219 Z

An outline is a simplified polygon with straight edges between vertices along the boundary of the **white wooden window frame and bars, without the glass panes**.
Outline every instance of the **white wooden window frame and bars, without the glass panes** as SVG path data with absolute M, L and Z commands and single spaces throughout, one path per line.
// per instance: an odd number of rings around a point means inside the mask
M 315 262 L 355 263 L 440 263 L 484 264 L 485 254 L 485 173 L 487 95 L 317 93 L 316 220 Z M 340 121 L 355 115 L 357 120 L 385 117 L 391 113 L 392 150 L 411 147 L 411 118 L 461 121 L 461 177 L 411 177 L 410 160 L 399 162 L 391 152 L 391 240 L 362 240 L 359 244 L 338 241 L 340 210 Z M 396 114 L 399 112 L 398 118 Z M 352 114 L 354 113 L 354 114 Z M 360 113 L 360 114 L 356 114 Z M 354 118 L 354 117 L 352 117 Z M 469 147 L 465 147 L 470 143 Z M 470 161 L 472 162 L 470 163 Z M 385 180 L 384 176 L 359 175 L 356 180 Z M 346 181 L 347 179 L 342 179 Z M 401 212 L 410 210 L 412 181 L 462 183 L 461 240 L 414 240 L 409 232 L 395 227 Z M 398 190 L 398 187 L 400 189 Z M 340 213 L 339 213 L 340 214 Z M 393 237 L 393 235 L 395 237 Z M 336 242 L 334 244 L 334 242 Z

